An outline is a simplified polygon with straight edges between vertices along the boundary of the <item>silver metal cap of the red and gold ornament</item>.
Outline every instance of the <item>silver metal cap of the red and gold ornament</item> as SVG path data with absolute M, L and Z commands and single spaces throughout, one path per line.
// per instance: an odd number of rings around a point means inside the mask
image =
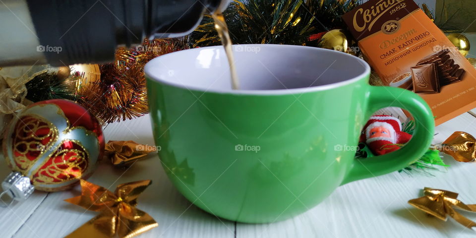
M 1 182 L 3 192 L 0 198 L 6 192 L 13 200 L 26 200 L 35 190 L 28 177 L 22 176 L 18 172 L 11 172 L 6 179 Z

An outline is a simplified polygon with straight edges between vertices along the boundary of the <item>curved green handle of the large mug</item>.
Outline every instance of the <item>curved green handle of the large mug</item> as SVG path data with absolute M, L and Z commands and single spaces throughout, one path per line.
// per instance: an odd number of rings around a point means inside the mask
M 382 86 L 369 86 L 367 115 L 385 107 L 400 107 L 409 111 L 415 119 L 412 139 L 401 149 L 366 159 L 355 159 L 354 166 L 341 183 L 388 174 L 407 167 L 420 158 L 433 139 L 435 121 L 430 108 L 412 91 Z

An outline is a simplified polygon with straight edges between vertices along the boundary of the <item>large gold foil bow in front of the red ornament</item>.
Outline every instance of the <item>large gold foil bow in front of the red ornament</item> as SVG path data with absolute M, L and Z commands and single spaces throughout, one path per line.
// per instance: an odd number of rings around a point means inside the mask
M 149 214 L 135 208 L 137 197 L 151 182 L 141 180 L 122 183 L 112 193 L 104 187 L 81 180 L 81 195 L 64 201 L 101 213 L 66 238 L 131 238 L 157 227 L 157 222 Z

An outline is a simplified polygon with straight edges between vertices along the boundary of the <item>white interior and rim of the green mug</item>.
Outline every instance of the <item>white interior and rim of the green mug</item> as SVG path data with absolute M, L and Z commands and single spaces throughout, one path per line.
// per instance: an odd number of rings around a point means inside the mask
M 370 66 L 352 55 L 291 45 L 234 45 L 239 90 L 232 90 L 222 46 L 178 51 L 150 60 L 145 74 L 160 83 L 219 93 L 298 93 L 343 86 Z

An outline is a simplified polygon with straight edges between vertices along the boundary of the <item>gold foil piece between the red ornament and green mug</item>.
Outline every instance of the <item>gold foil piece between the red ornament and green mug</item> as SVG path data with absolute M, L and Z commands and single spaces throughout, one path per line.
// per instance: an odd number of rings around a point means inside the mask
M 106 144 L 105 155 L 116 166 L 127 166 L 150 152 L 156 151 L 155 147 L 135 143 L 132 140 L 110 140 Z

